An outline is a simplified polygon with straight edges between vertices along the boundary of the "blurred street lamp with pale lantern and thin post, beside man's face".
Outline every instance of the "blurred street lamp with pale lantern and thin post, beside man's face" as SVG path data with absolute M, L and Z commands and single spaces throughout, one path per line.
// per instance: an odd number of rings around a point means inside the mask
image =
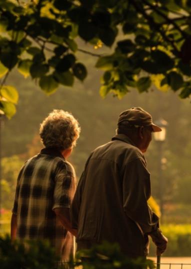
M 164 189 L 163 189 L 163 175 L 162 175 L 162 144 L 166 136 L 167 121 L 160 118 L 155 121 L 155 124 L 157 124 L 162 129 L 159 132 L 154 132 L 154 140 L 157 143 L 157 149 L 158 149 L 158 190 L 159 190 L 160 212 L 161 212 L 161 217 L 162 217 L 163 211 L 164 211 L 164 200 L 163 200 Z

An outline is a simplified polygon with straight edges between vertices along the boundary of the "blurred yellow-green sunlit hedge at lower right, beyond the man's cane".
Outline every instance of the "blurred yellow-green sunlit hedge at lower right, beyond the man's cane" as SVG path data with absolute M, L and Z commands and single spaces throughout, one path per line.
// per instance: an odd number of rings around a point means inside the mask
M 190 256 L 191 225 L 163 225 L 162 233 L 168 238 L 167 249 L 163 256 Z M 156 247 L 150 244 L 150 255 L 154 256 Z

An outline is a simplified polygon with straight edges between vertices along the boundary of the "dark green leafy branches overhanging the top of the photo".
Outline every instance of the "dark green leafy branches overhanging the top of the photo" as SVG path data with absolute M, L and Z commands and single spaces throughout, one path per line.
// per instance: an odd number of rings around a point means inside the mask
M 118 97 L 130 87 L 170 87 L 191 93 L 191 0 L 0 0 L 0 109 L 15 112 L 17 92 L 5 85 L 13 68 L 31 76 L 47 94 L 87 75 L 78 50 L 97 56 L 104 70 L 100 94 Z M 122 34 L 121 34 L 122 30 Z M 110 54 L 78 47 L 112 46 Z M 120 40 L 119 40 L 120 39 Z

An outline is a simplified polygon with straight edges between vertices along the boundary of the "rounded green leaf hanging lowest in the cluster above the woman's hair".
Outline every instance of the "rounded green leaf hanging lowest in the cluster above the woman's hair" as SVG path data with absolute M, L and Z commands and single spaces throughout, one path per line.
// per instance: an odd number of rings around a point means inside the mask
M 50 95 L 56 90 L 58 83 L 53 78 L 53 75 L 46 75 L 40 78 L 39 86 L 46 92 L 47 95 Z

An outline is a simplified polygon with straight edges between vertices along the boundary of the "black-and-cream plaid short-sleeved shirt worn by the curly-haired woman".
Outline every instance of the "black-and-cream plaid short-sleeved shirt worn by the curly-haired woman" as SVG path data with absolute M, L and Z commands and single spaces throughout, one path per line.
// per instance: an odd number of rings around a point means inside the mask
M 70 207 L 76 188 L 75 172 L 57 150 L 42 149 L 21 168 L 12 212 L 17 215 L 17 237 L 48 239 L 61 261 L 74 254 L 74 237 L 52 209 Z

